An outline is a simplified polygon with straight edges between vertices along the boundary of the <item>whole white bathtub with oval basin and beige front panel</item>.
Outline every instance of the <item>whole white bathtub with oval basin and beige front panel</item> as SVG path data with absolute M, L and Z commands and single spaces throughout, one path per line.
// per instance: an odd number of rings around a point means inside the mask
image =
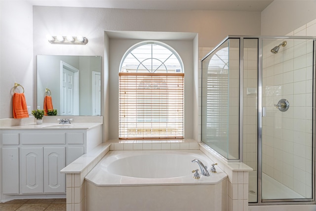
M 87 211 L 226 211 L 227 174 L 193 178 L 199 150 L 110 151 L 85 176 Z M 200 170 L 199 170 L 200 172 Z

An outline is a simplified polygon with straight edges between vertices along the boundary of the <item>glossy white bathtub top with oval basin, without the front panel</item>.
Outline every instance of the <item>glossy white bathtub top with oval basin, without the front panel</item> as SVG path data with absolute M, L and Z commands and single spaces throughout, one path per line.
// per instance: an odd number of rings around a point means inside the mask
M 218 168 L 210 176 L 193 178 L 199 159 L 210 172 L 213 162 L 199 150 L 110 151 L 85 177 L 97 186 L 144 184 L 217 184 L 227 177 Z M 198 171 L 201 172 L 200 169 Z

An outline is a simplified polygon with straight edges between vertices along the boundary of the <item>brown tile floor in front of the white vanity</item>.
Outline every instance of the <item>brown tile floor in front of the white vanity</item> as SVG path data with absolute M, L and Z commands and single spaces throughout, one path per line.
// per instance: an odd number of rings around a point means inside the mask
M 66 199 L 17 199 L 0 203 L 0 211 L 66 211 Z

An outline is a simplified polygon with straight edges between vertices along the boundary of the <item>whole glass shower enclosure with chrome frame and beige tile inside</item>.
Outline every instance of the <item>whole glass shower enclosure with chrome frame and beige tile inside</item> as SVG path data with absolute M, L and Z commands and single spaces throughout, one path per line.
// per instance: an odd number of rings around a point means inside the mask
M 229 36 L 202 59 L 201 141 L 253 169 L 250 203 L 315 198 L 315 40 Z

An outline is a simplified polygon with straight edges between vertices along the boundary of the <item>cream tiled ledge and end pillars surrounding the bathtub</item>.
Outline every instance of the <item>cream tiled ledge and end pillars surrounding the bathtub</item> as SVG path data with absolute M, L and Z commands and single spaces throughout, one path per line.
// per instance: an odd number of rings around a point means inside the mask
M 222 169 L 227 175 L 227 196 L 225 201 L 225 205 L 227 206 L 225 210 L 227 211 L 247 211 L 248 210 L 248 171 L 252 169 L 243 163 L 238 162 L 226 162 L 221 160 L 220 157 L 217 156 L 216 153 L 209 150 L 208 147 L 201 146 L 199 143 L 192 139 L 184 139 L 177 140 L 179 143 L 176 143 L 177 150 L 197 150 L 200 149 L 207 157 L 209 157 L 213 162 L 218 163 L 217 169 Z M 112 143 L 111 143 L 112 142 Z M 62 170 L 63 173 L 66 173 L 66 186 L 67 186 L 67 211 L 84 211 L 85 210 L 85 196 L 89 194 L 85 192 L 86 189 L 89 189 L 89 182 L 85 181 L 84 177 L 90 172 L 91 169 L 96 166 L 96 164 L 106 155 L 110 150 L 161 150 L 162 148 L 167 148 L 164 150 L 171 150 L 171 144 L 173 141 L 138 141 L 138 140 L 128 140 L 128 141 L 119 141 L 119 140 L 111 140 L 106 143 L 98 146 L 93 152 L 90 152 L 87 155 L 81 156 L 79 159 L 74 161 L 71 165 L 67 166 Z M 149 144 L 149 145 L 148 145 Z M 162 145 L 163 144 L 163 145 Z M 167 145 L 164 145 L 167 144 Z M 125 148 L 124 148 L 125 145 Z M 158 148 L 156 148 L 158 147 Z M 169 147 L 169 148 L 168 148 Z M 175 149 L 173 149 L 175 150 Z M 224 182 L 225 183 L 225 182 Z M 158 189 L 164 190 L 163 185 L 157 186 Z M 145 191 L 152 188 L 144 187 L 142 191 Z M 191 189 L 191 195 L 194 193 L 198 193 L 197 197 L 199 197 L 200 189 L 198 186 L 192 185 L 184 185 L 180 188 L 197 188 L 196 190 Z M 222 188 L 217 185 L 214 187 Z M 120 191 L 120 187 L 116 187 L 116 191 Z M 160 191 L 160 190 L 157 190 Z M 145 191 L 146 192 L 146 191 Z M 132 192 L 131 194 L 134 194 Z M 225 196 L 224 196 L 225 197 Z M 138 197 L 141 199 L 141 197 Z M 172 199 L 173 200 L 173 199 Z M 113 202 L 115 203 L 115 202 Z M 119 204 L 119 202 L 117 202 Z M 224 205 L 223 205 L 224 206 Z M 185 209 L 184 209 L 185 210 Z

